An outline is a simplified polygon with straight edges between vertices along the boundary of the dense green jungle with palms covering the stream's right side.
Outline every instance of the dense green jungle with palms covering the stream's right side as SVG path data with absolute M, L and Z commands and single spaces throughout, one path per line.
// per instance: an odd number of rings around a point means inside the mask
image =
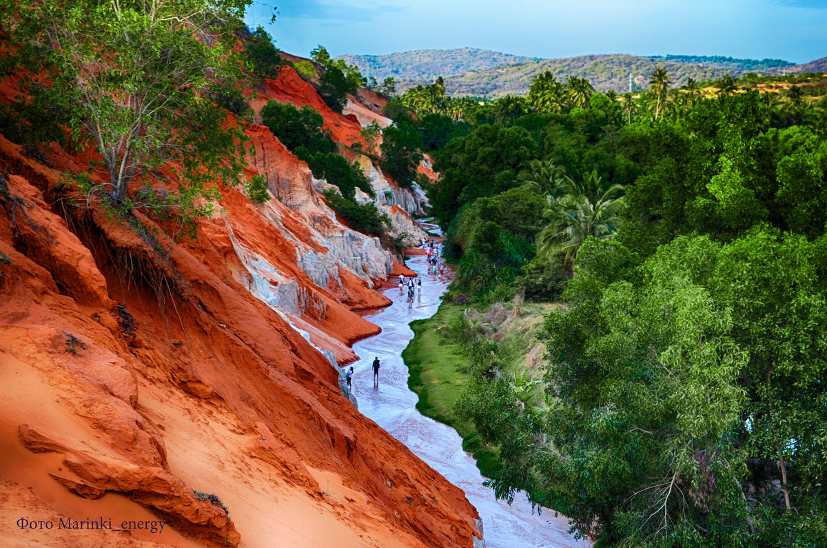
M 499 496 L 598 546 L 827 546 L 824 79 L 760 82 L 399 99 L 452 135 L 428 190 L 447 298 L 562 305 L 523 377 L 466 318 L 454 411 L 496 448 Z

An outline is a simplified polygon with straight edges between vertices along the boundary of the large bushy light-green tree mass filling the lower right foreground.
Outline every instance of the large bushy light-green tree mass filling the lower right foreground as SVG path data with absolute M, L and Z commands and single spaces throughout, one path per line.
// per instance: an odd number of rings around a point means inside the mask
M 504 448 L 498 496 L 526 489 L 605 546 L 824 544 L 824 246 L 758 228 L 638 267 L 587 240 L 546 319 L 546 401 L 480 375 L 461 402 Z

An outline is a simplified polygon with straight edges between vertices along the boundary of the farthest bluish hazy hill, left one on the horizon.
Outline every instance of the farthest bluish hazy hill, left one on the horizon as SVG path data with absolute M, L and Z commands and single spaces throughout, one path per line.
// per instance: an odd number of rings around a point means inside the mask
M 433 80 L 437 76 L 464 75 L 467 72 L 542 58 L 463 47 L 456 50 L 400 51 L 388 55 L 337 55 L 336 59 L 358 66 L 363 76 L 373 76 L 381 82 L 388 76 L 395 79 Z

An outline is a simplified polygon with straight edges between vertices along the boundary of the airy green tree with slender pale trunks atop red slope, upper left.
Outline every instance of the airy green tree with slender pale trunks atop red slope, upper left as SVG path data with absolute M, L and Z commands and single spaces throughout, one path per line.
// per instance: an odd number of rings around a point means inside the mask
M 208 95 L 241 74 L 231 46 L 249 2 L 0 0 L 10 46 L 2 73 L 22 76 L 23 108 L 50 113 L 76 146 L 93 145 L 90 170 L 107 182 L 86 190 L 122 210 L 177 206 L 187 218 L 216 195 L 210 183 L 240 171 L 241 127 Z M 173 195 L 127 194 L 133 180 L 163 189 L 165 166 Z

